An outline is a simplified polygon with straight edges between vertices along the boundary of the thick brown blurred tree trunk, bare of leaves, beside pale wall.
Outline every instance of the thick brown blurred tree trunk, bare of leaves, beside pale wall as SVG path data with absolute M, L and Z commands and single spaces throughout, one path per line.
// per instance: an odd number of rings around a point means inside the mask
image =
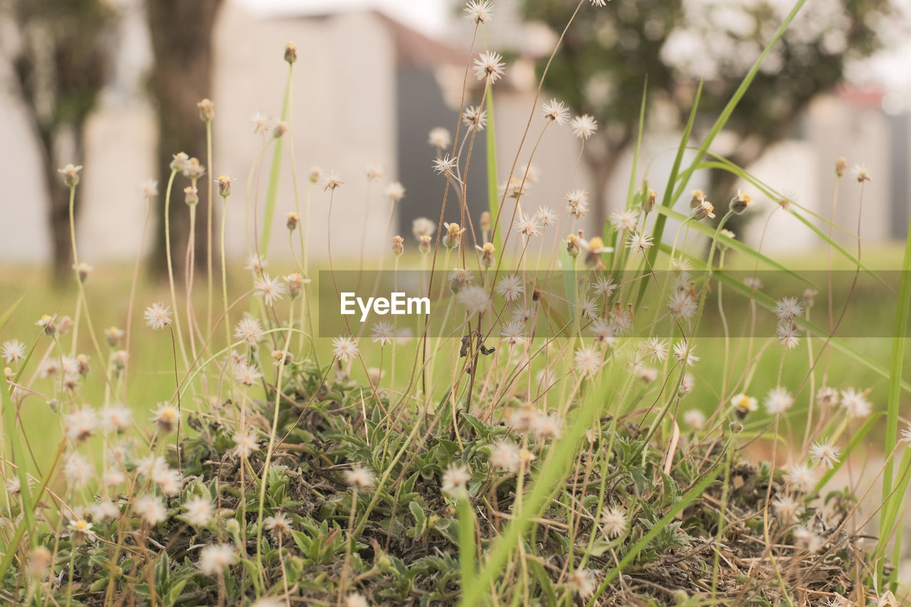
M 151 95 L 158 106 L 159 117 L 159 217 L 164 216 L 173 155 L 183 151 L 199 158 L 203 166 L 207 162 L 206 126 L 196 104 L 211 97 L 212 32 L 221 4 L 222 0 L 147 0 L 146 3 L 155 55 Z M 198 264 L 206 262 L 206 192 L 213 179 L 214 176 L 206 174 L 197 183 L 200 190 L 196 230 Z M 189 211 L 183 201 L 183 189 L 188 185 L 189 180 L 178 175 L 171 191 L 171 257 L 178 274 L 183 273 L 189 237 Z M 215 244 L 213 248 L 217 251 L 217 242 Z M 156 273 L 167 272 L 163 221 L 159 222 L 152 269 Z

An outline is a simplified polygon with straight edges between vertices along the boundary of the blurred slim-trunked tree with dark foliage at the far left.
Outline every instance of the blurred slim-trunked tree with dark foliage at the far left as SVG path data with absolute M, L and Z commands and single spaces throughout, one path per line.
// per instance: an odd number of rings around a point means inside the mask
M 3 7 L 20 35 L 13 67 L 42 151 L 55 276 L 66 277 L 69 191 L 57 170 L 84 160 L 86 121 L 105 84 L 117 15 L 103 0 L 12 0 Z M 77 190 L 77 214 L 79 198 Z

